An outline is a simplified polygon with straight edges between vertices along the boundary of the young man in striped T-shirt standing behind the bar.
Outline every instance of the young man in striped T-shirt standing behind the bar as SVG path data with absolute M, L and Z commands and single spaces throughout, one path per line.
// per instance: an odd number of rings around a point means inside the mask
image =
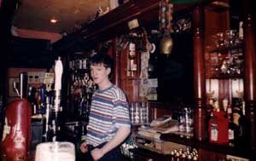
M 90 74 L 98 89 L 92 96 L 86 141 L 80 146 L 87 160 L 122 160 L 119 144 L 131 131 L 128 103 L 123 91 L 110 82 L 112 72 L 110 56 L 90 58 Z

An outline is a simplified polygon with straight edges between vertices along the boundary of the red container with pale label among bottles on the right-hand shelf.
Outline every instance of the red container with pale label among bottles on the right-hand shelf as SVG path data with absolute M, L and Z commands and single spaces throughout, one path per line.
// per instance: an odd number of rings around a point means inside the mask
M 225 112 L 212 112 L 209 121 L 209 141 L 217 144 L 229 143 L 229 120 L 225 118 Z

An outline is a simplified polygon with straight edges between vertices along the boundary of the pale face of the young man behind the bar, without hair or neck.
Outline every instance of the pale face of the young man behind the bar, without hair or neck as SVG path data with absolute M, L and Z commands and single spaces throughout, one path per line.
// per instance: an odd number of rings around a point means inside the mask
M 110 71 L 110 68 L 106 68 L 103 64 L 90 66 L 90 75 L 93 78 L 94 83 L 98 85 L 104 81 L 108 81 L 108 75 Z

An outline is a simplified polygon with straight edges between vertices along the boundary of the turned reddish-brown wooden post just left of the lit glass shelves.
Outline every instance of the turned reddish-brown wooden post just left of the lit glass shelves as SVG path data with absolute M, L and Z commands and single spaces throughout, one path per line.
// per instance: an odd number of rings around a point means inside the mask
M 204 54 L 204 9 L 195 7 L 192 11 L 194 43 L 194 96 L 195 96 L 195 139 L 206 139 L 206 76 Z

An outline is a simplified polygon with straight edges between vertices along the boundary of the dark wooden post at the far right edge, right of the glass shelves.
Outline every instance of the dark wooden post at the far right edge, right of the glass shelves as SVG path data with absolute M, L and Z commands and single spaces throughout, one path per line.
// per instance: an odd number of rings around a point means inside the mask
M 247 138 L 250 149 L 256 149 L 256 43 L 255 43 L 255 27 L 253 26 L 253 0 L 245 0 L 243 2 L 243 28 L 244 28 L 244 55 L 245 55 L 245 102 L 246 117 L 248 121 Z

